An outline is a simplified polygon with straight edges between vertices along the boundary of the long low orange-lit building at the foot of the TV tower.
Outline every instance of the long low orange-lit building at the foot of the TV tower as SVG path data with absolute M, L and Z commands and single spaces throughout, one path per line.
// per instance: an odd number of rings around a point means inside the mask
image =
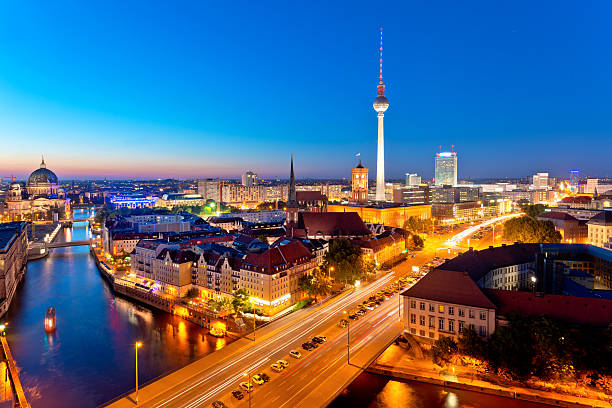
M 385 203 L 381 205 L 340 205 L 328 204 L 328 212 L 355 212 L 369 224 L 383 224 L 388 227 L 403 228 L 410 217 L 431 218 L 431 205 L 401 205 Z

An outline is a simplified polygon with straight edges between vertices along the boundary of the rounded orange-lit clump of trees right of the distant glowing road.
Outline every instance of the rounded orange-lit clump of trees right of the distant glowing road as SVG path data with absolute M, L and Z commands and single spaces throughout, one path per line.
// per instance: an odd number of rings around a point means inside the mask
M 504 223 L 503 239 L 511 242 L 561 242 L 561 233 L 550 221 L 539 221 L 530 216 L 511 218 Z

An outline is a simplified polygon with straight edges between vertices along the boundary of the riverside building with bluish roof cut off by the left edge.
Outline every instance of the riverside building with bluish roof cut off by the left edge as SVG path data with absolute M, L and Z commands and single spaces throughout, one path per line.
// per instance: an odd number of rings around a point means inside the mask
M 8 310 L 17 284 L 25 273 L 28 257 L 27 226 L 25 221 L 0 224 L 0 316 Z

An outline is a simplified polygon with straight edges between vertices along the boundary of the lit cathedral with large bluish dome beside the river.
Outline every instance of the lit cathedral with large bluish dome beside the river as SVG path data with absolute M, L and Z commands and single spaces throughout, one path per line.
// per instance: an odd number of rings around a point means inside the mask
M 35 217 L 57 221 L 70 212 L 70 200 L 55 173 L 47 169 L 44 158 L 40 168 L 28 177 L 25 188 L 21 183 L 11 184 L 6 204 L 13 220 Z

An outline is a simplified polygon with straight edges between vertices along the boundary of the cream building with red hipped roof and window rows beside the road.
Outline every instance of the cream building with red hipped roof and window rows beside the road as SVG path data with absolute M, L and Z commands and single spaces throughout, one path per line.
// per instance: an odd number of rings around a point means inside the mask
M 435 269 L 402 296 L 404 330 L 421 338 L 457 339 L 468 327 L 482 337 L 495 331 L 495 309 L 466 272 Z

